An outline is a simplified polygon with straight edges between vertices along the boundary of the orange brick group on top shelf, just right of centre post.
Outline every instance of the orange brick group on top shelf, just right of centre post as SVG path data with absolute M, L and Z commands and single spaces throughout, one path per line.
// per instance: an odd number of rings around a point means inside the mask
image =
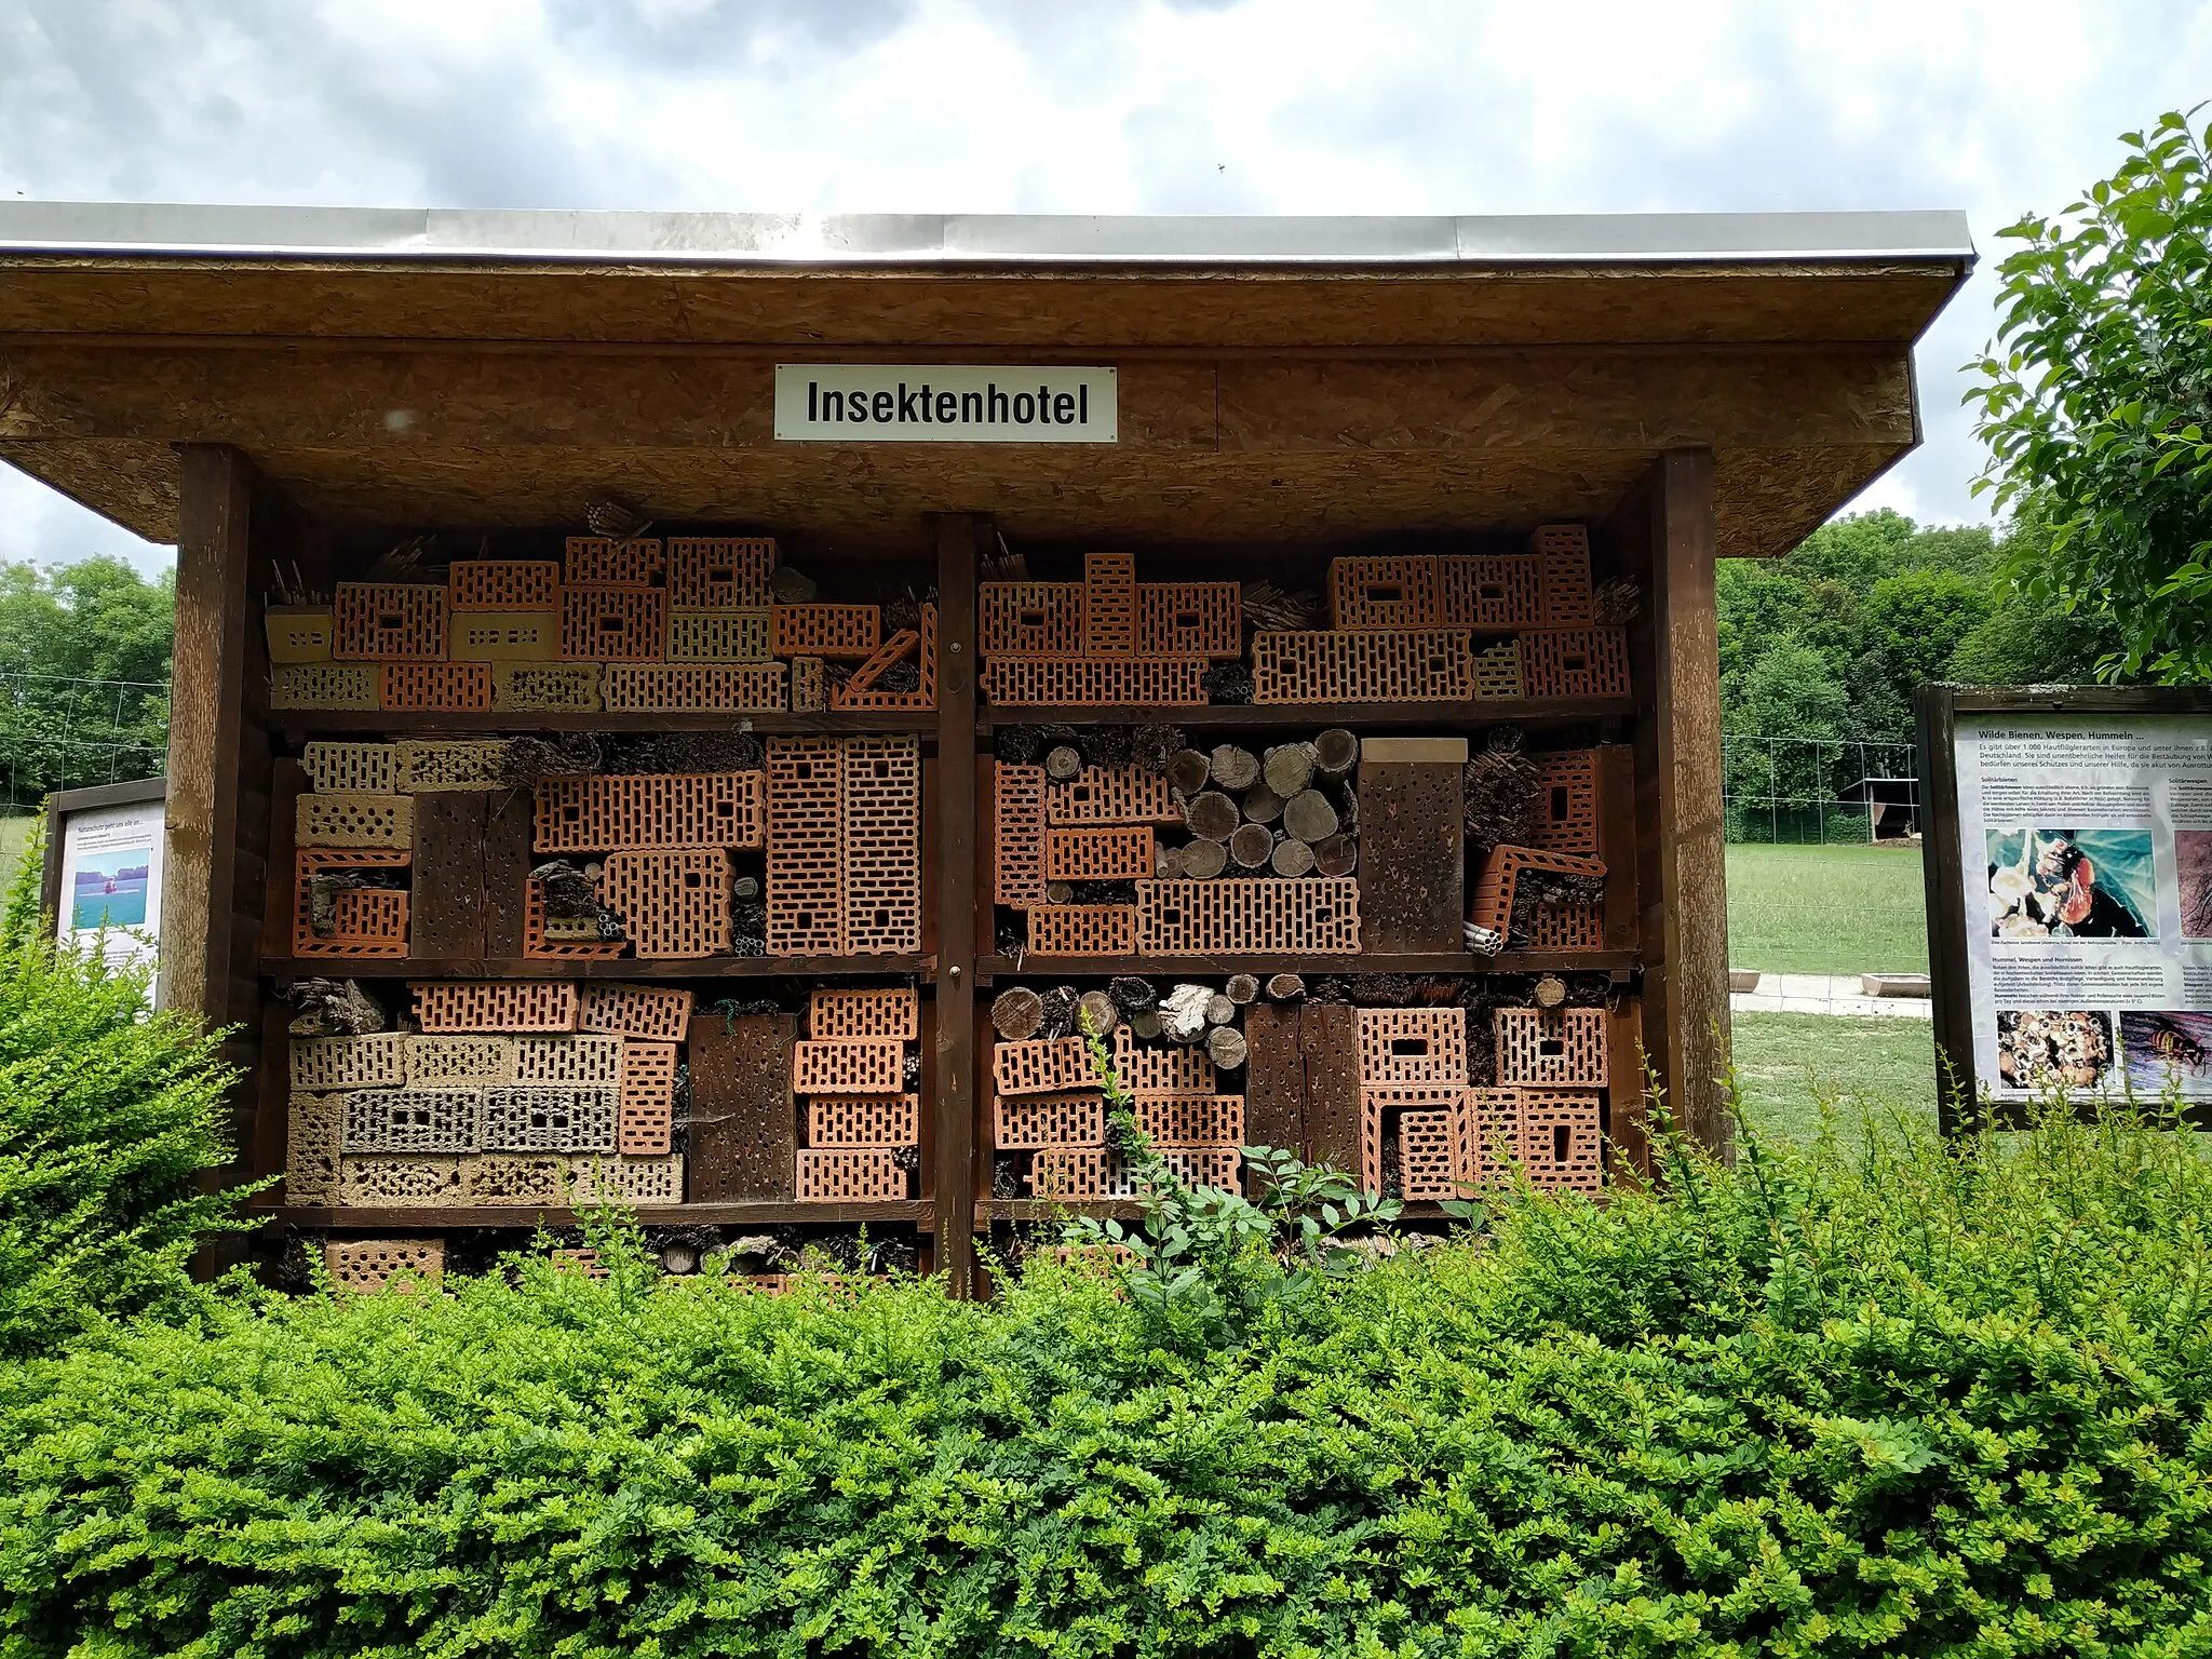
M 1137 582 L 1133 553 L 1088 553 L 1082 582 L 984 582 L 982 690 L 1000 706 L 1192 708 L 1243 655 L 1234 582 Z

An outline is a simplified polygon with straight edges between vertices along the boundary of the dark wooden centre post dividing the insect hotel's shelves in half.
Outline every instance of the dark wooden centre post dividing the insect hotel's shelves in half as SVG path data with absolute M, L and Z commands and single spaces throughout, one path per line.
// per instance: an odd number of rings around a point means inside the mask
M 975 544 L 984 522 L 940 513 L 938 540 L 938 1267 L 975 1292 Z

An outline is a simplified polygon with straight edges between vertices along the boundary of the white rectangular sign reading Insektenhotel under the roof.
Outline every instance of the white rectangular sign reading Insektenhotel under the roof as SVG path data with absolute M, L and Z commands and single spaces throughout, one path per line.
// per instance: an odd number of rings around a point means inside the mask
M 872 445 L 1110 445 L 1115 369 L 779 363 L 776 438 Z

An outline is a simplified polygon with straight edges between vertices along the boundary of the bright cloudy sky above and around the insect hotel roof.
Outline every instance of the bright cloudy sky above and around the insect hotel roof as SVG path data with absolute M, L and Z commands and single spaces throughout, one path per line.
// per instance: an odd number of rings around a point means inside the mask
M 7 0 L 0 197 L 805 212 L 1964 208 L 2212 97 L 2086 0 Z M 1962 363 L 1860 504 L 1973 520 Z M 153 549 L 0 467 L 0 557 Z

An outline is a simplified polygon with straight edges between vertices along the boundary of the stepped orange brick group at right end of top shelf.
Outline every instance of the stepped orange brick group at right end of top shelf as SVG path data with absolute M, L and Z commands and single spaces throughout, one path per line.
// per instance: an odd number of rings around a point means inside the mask
M 1327 630 L 1252 637 L 1254 703 L 1621 697 L 1628 646 L 1595 624 L 1590 540 L 1546 524 L 1528 553 L 1340 557 Z

